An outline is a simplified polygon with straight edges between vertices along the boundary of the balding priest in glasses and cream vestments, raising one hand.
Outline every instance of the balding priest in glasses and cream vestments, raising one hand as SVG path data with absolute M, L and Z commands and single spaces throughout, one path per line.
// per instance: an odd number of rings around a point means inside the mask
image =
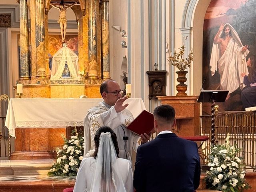
M 109 126 L 117 136 L 119 157 L 132 161 L 132 150 L 137 151 L 137 144 L 148 142 L 150 136 L 146 133 L 140 136 L 126 127 L 134 120 L 132 113 L 123 105 L 127 97 L 122 97 L 120 85 L 114 80 L 106 80 L 100 85 L 103 102 L 88 110 L 84 118 L 84 157 L 89 150 L 94 149 L 94 135 L 101 126 Z

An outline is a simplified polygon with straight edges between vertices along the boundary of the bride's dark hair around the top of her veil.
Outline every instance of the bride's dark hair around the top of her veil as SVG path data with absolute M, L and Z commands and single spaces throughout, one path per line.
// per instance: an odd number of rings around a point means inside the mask
M 94 142 L 95 142 L 95 151 L 93 153 L 93 157 L 96 159 L 97 157 L 97 153 L 98 153 L 98 148 L 99 148 L 99 144 L 100 144 L 100 134 L 104 132 L 110 132 L 111 134 L 111 138 L 112 138 L 112 141 L 114 143 L 114 147 L 115 147 L 115 150 L 116 150 L 116 156 L 118 156 L 119 154 L 119 148 L 118 148 L 118 142 L 117 142 L 117 138 L 116 138 L 116 134 L 115 132 L 108 126 L 102 126 L 100 127 L 97 131 L 96 131 L 96 134 L 94 136 Z

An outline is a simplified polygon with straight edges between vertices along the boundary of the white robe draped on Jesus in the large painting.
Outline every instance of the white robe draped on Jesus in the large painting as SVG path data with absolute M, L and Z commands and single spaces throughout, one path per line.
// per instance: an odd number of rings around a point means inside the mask
M 245 72 L 245 74 L 248 74 L 246 56 L 249 50 L 246 50 L 242 54 L 243 45 L 237 32 L 230 24 L 226 25 L 230 26 L 233 38 L 229 40 L 226 50 L 221 57 L 219 45 L 213 44 L 210 69 L 213 76 L 218 67 L 220 73 L 220 90 L 228 90 L 230 94 L 237 88 L 244 87 L 244 78 L 241 76 L 241 73 Z

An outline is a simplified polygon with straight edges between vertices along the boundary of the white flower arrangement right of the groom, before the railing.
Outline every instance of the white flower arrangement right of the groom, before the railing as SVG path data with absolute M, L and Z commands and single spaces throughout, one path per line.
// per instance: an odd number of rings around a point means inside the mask
M 223 192 L 242 192 L 251 186 L 244 178 L 244 164 L 236 155 L 240 148 L 230 145 L 230 134 L 227 134 L 225 145 L 211 147 L 208 158 L 210 170 L 206 172 L 206 186 L 209 189 Z

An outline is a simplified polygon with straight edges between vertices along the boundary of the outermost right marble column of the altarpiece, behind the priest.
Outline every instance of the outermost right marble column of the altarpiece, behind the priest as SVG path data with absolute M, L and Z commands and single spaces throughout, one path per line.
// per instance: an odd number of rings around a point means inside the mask
M 109 67 L 109 0 L 102 1 L 102 64 L 103 79 L 110 79 Z

